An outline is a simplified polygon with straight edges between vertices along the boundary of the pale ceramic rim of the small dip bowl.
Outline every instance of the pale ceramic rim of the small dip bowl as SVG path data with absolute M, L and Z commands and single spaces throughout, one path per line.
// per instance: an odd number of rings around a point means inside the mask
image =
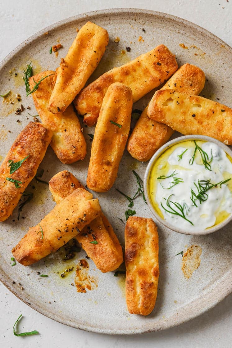
M 145 193 L 145 198 L 147 201 L 147 205 L 150 209 L 150 211 L 153 213 L 153 215 L 156 217 L 156 219 L 161 222 L 164 226 L 168 227 L 170 230 L 181 233 L 181 234 L 185 234 L 185 235 L 192 235 L 192 236 L 203 236 L 203 235 L 208 235 L 210 233 L 216 232 L 220 229 L 222 229 L 224 226 L 226 226 L 231 220 L 232 220 L 232 214 L 230 214 L 224 221 L 222 221 L 221 223 L 218 223 L 216 226 L 213 227 L 209 227 L 206 230 L 198 230 L 198 231 L 186 231 L 186 230 L 182 230 L 181 228 L 176 228 L 175 226 L 171 225 L 169 222 L 167 222 L 166 220 L 162 219 L 162 217 L 160 215 L 158 215 L 158 213 L 156 212 L 156 210 L 154 209 L 151 201 L 150 201 L 150 196 L 149 196 L 149 191 L 148 191 L 148 180 L 149 180 L 149 176 L 150 176 L 150 171 L 153 167 L 154 162 L 156 161 L 156 159 L 158 157 L 160 157 L 160 155 L 162 155 L 162 153 L 164 151 L 166 151 L 167 149 L 169 149 L 172 145 L 178 144 L 180 142 L 184 142 L 184 141 L 188 141 L 188 140 L 201 140 L 201 141 L 210 141 L 213 142 L 215 144 L 217 144 L 221 149 L 223 149 L 227 155 L 229 155 L 232 158 L 232 151 L 231 149 L 224 143 L 222 143 L 219 140 L 216 140 L 210 136 L 207 135 L 183 135 L 183 136 L 179 136 L 175 139 L 172 139 L 170 141 L 168 141 L 167 143 L 165 143 L 161 148 L 159 148 L 154 155 L 152 156 L 152 158 L 149 160 L 149 163 L 146 167 L 146 171 L 145 171 L 145 175 L 144 175 L 144 193 Z

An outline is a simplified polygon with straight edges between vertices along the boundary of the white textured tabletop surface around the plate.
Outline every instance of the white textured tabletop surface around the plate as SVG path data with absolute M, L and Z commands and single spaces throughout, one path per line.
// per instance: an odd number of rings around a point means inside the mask
M 116 7 L 145 8 L 185 18 L 232 46 L 232 0 L 1 0 L 0 60 L 22 41 L 52 23 L 72 15 Z M 0 283 L 0 347 L 230 348 L 231 300 L 232 295 L 200 317 L 166 331 L 130 337 L 109 336 L 56 323 L 26 306 Z M 25 338 L 13 335 L 13 324 L 21 313 L 24 318 L 19 325 L 20 331 L 36 329 L 40 335 Z

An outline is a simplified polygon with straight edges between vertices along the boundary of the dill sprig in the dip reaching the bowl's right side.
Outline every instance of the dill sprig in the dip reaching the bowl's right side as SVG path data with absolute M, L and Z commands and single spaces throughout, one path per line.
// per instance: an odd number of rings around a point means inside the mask
M 208 199 L 208 194 L 206 193 L 213 187 L 216 187 L 217 185 L 220 185 L 220 188 L 222 187 L 222 184 L 225 184 L 226 182 L 230 181 L 231 179 L 227 179 L 224 181 L 217 182 L 216 184 L 212 184 L 209 180 L 198 180 L 198 183 L 196 184 L 194 182 L 194 185 L 197 189 L 197 193 L 194 192 L 194 190 L 191 188 L 191 201 L 195 207 L 198 207 L 196 204 L 196 200 L 199 200 L 200 204 Z

